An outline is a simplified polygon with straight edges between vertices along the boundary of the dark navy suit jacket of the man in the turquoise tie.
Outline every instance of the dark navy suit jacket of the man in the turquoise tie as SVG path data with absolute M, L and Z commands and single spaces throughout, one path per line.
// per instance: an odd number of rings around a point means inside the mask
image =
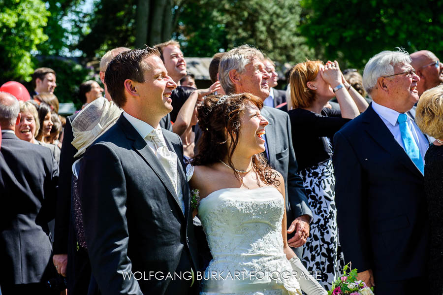
M 340 242 L 346 262 L 379 281 L 424 275 L 423 175 L 372 105 L 334 136 Z

